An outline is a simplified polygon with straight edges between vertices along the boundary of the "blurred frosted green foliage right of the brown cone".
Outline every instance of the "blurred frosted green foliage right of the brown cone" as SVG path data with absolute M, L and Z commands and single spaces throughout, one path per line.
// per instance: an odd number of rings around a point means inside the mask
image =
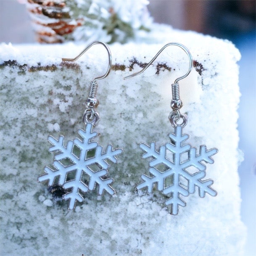
M 148 0 L 77 0 L 67 1 L 74 17 L 82 18 L 82 26 L 73 33 L 74 40 L 102 40 L 127 42 L 150 30 L 152 17 L 147 9 Z M 77 13 L 77 14 L 75 14 Z

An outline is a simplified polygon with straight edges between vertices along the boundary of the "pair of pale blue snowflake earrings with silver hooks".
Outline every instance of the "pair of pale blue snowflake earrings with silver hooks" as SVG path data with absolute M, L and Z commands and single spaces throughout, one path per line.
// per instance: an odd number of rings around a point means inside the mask
M 98 80 L 103 79 L 108 76 L 111 70 L 112 57 L 111 51 L 104 42 L 97 41 L 92 42 L 87 48 L 82 51 L 76 58 L 69 59 L 63 58 L 63 61 L 76 61 L 82 54 L 84 54 L 88 49 L 90 49 L 95 44 L 103 45 L 108 52 L 108 70 L 106 74 L 101 77 L 96 77 L 90 84 L 90 91 L 86 101 L 87 108 L 84 111 L 83 122 L 85 124 L 85 129 L 79 129 L 78 133 L 82 137 L 82 140 L 75 138 L 74 140 L 68 141 L 66 146 L 64 143 L 64 137 L 61 135 L 58 139 L 52 136 L 48 137 L 48 141 L 52 144 L 50 147 L 50 152 L 58 152 L 54 156 L 53 166 L 51 169 L 45 166 L 44 175 L 38 178 L 39 182 L 48 180 L 48 185 L 53 186 L 55 179 L 58 177 L 58 185 L 63 187 L 67 193 L 63 195 L 64 200 L 69 200 L 69 209 L 74 209 L 76 201 L 82 202 L 83 195 L 81 193 L 88 192 L 89 190 L 94 190 L 96 184 L 98 184 L 98 195 L 102 195 L 104 190 L 107 193 L 113 195 L 115 190 L 111 187 L 113 182 L 112 178 L 106 178 L 108 174 L 109 164 L 107 160 L 113 163 L 117 162 L 116 156 L 123 153 L 121 148 L 113 149 L 112 145 L 108 145 L 106 153 L 103 153 L 102 146 L 98 145 L 97 142 L 91 141 L 92 138 L 97 136 L 96 132 L 92 132 L 93 127 L 98 124 L 100 116 L 95 108 L 98 105 L 98 100 L 96 99 L 96 93 L 98 88 Z M 170 198 L 166 200 L 166 205 L 171 205 L 171 214 L 177 215 L 179 212 L 179 206 L 186 206 L 185 201 L 180 198 L 180 195 L 188 196 L 195 193 L 195 188 L 198 187 L 199 196 L 204 197 L 206 193 L 216 196 L 216 191 L 211 188 L 213 184 L 212 179 L 202 180 L 206 176 L 206 166 L 202 161 L 213 164 L 214 160 L 211 158 L 214 154 L 218 152 L 216 148 L 206 149 L 205 145 L 200 146 L 199 153 L 196 152 L 196 148 L 191 147 L 190 144 L 185 143 L 189 138 L 188 135 L 182 133 L 182 129 L 187 124 L 187 117 L 185 114 L 180 113 L 180 108 L 182 108 L 182 101 L 179 96 L 179 83 L 178 81 L 187 77 L 187 75 L 192 70 L 193 59 L 189 50 L 182 44 L 177 42 L 170 42 L 164 45 L 161 50 L 153 57 L 153 59 L 145 66 L 141 71 L 129 75 L 124 79 L 137 76 L 141 74 L 145 69 L 147 69 L 153 61 L 158 57 L 158 55 L 168 46 L 176 45 L 188 55 L 190 64 L 189 69 L 185 75 L 177 78 L 172 84 L 172 101 L 171 108 L 172 112 L 169 114 L 169 121 L 172 127 L 174 127 L 174 133 L 169 135 L 170 142 L 162 145 L 159 150 L 156 149 L 156 144 L 152 142 L 150 145 L 144 143 L 140 144 L 140 148 L 145 151 L 143 158 L 153 158 L 149 162 L 149 173 L 150 176 L 143 174 L 141 178 L 143 182 L 137 185 L 137 189 L 147 188 L 148 193 L 153 192 L 153 187 L 156 187 L 159 191 L 162 191 L 164 195 L 170 195 Z M 182 123 L 178 124 L 179 120 L 182 119 Z M 172 159 L 167 156 L 172 153 Z M 182 155 L 187 154 L 187 158 L 183 160 Z M 63 161 L 69 159 L 69 164 L 63 164 Z M 162 172 L 157 169 L 159 164 L 164 164 L 167 170 Z M 96 169 L 92 169 L 91 166 L 97 166 Z M 187 171 L 190 166 L 194 166 L 198 171 L 191 174 Z M 70 172 L 74 172 L 73 179 L 67 180 L 67 176 Z M 82 178 L 83 174 L 89 176 L 89 181 L 86 183 Z M 165 181 L 167 177 L 171 177 L 172 184 L 166 186 Z M 182 182 L 182 177 L 187 180 L 187 185 Z

